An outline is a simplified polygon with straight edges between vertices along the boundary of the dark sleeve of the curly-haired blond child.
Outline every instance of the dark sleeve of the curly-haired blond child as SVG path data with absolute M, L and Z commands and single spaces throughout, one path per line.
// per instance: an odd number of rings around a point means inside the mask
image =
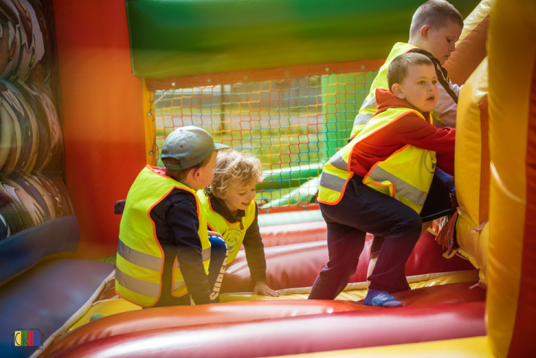
M 263 238 L 260 237 L 257 207 L 255 207 L 255 220 L 247 228 L 243 244 L 252 281 L 266 281 L 265 245 Z

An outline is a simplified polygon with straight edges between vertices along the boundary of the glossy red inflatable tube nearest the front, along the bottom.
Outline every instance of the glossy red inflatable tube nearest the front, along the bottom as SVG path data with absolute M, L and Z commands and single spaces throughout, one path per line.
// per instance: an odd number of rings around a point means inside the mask
M 52 357 L 269 357 L 485 334 L 484 302 L 469 302 L 159 328 L 97 339 Z

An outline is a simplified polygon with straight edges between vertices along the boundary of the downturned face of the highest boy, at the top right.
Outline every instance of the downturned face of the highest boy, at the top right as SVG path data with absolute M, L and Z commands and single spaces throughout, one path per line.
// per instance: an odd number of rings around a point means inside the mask
M 447 26 L 436 30 L 426 25 L 421 29 L 421 37 L 424 40 L 421 48 L 437 58 L 443 66 L 454 52 L 454 44 L 460 38 L 460 34 L 462 34 L 462 27 L 452 21 Z

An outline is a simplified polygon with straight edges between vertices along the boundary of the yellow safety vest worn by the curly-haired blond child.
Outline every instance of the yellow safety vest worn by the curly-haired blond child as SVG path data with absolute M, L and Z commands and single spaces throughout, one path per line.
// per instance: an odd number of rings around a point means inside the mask
M 197 197 L 199 198 L 199 204 L 201 205 L 203 212 L 205 212 L 208 225 L 211 227 L 212 231 L 221 234 L 223 240 L 227 243 L 227 251 L 229 251 L 229 256 L 227 256 L 228 267 L 231 262 L 233 262 L 234 258 L 236 258 L 238 251 L 240 251 L 247 228 L 250 227 L 255 220 L 256 203 L 254 200 L 249 203 L 249 206 L 245 211 L 245 216 L 242 219 L 242 223 L 239 221 L 230 223 L 225 220 L 223 216 L 212 210 L 210 200 L 203 190 L 197 192 Z

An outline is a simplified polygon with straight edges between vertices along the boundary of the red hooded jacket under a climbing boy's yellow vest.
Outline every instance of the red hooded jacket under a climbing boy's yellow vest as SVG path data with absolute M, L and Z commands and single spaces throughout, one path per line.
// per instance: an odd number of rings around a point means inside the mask
M 376 101 L 381 113 L 390 108 L 414 109 L 406 100 L 401 100 L 390 91 L 376 89 Z M 429 119 L 429 112 L 422 113 Z M 354 146 L 350 159 L 350 170 L 360 177 L 364 177 L 370 168 L 378 161 L 383 161 L 394 152 L 410 144 L 426 150 L 434 150 L 437 155 L 437 166 L 450 175 L 454 175 L 454 139 L 456 129 L 436 128 L 430 122 L 408 113 L 362 138 Z

